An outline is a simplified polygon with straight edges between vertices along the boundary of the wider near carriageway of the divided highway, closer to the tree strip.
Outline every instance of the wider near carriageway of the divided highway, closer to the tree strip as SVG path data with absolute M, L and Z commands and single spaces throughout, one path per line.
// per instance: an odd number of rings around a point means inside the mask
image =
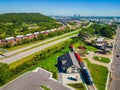
M 29 56 L 29 55 L 31 55 L 33 53 L 36 53 L 36 52 L 38 52 L 40 50 L 43 50 L 45 48 L 48 48 L 50 46 L 53 46 L 53 45 L 55 45 L 57 43 L 63 42 L 63 41 L 68 40 L 68 39 L 70 39 L 70 37 L 62 38 L 62 39 L 59 39 L 59 40 L 44 44 L 42 46 L 38 46 L 36 48 L 30 49 L 30 50 L 25 51 L 25 52 L 21 52 L 19 54 L 16 54 L 14 56 L 9 57 L 9 58 L 2 59 L 0 62 L 7 63 L 7 64 L 13 63 L 13 62 L 15 62 L 17 60 L 20 60 L 20 59 L 22 59 L 24 57 L 27 57 L 27 56 Z

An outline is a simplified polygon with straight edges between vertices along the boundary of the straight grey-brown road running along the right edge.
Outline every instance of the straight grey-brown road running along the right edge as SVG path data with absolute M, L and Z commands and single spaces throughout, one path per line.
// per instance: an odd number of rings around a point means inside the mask
M 114 57 L 111 64 L 111 78 L 110 90 L 120 90 L 120 28 L 118 28 L 116 33 Z

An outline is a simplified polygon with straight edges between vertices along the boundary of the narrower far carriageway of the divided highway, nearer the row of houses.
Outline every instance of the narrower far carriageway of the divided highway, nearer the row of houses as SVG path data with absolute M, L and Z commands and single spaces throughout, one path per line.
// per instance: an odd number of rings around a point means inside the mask
M 55 39 L 58 39 L 58 38 L 61 38 L 61 37 L 70 35 L 70 34 L 72 34 L 72 33 L 78 32 L 78 31 L 79 31 L 79 30 L 76 30 L 76 31 L 73 31 L 73 32 L 70 32 L 70 33 L 67 33 L 67 34 L 64 34 L 64 35 L 60 35 L 60 36 L 57 36 L 57 37 L 54 37 L 54 38 L 50 38 L 50 39 L 41 41 L 41 42 L 39 42 L 39 43 L 30 45 L 30 46 L 27 46 L 27 47 L 24 47 L 24 48 L 20 48 L 20 49 L 14 50 L 14 51 L 7 52 L 7 53 L 5 53 L 4 55 L 5 55 L 5 56 L 12 56 L 12 55 L 15 55 L 15 54 L 17 54 L 17 53 L 19 53 L 19 52 L 22 52 L 22 51 L 25 51 L 25 50 L 27 50 L 27 49 L 30 49 L 30 48 L 32 48 L 32 47 L 35 47 L 35 46 L 38 46 L 38 45 L 42 45 L 42 44 L 47 43 L 47 42 L 49 42 L 49 41 L 52 41 L 52 40 L 55 40 Z M 3 56 L 0 56 L 0 58 L 2 58 L 2 57 L 3 57 Z

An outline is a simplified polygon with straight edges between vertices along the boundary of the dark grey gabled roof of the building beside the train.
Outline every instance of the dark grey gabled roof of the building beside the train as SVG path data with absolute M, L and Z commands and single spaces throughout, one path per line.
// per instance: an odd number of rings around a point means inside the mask
M 59 59 L 61 62 L 65 62 L 61 65 L 61 67 L 65 67 L 65 69 L 68 69 L 72 65 L 75 65 L 78 68 L 80 68 L 80 66 L 78 64 L 78 60 L 76 59 L 76 57 L 74 55 L 74 52 L 67 52 L 67 53 L 63 54 L 62 56 L 60 56 Z

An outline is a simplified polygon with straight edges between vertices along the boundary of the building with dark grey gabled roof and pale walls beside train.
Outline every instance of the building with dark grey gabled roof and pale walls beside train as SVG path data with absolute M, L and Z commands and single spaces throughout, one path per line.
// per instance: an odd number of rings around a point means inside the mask
M 78 73 L 80 71 L 74 52 L 67 52 L 58 57 L 58 69 L 64 73 Z

